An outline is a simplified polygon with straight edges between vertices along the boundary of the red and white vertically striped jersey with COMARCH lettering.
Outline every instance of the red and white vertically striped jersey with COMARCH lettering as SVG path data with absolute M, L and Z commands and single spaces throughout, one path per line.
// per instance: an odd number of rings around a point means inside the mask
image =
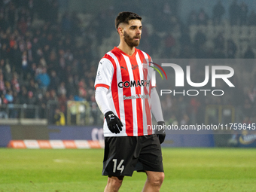
M 111 133 L 104 120 L 104 136 L 151 135 L 151 57 L 135 49 L 132 56 L 117 47 L 99 61 L 95 81 L 96 87 L 108 88 L 107 99 L 111 111 L 120 118 L 123 130 Z

